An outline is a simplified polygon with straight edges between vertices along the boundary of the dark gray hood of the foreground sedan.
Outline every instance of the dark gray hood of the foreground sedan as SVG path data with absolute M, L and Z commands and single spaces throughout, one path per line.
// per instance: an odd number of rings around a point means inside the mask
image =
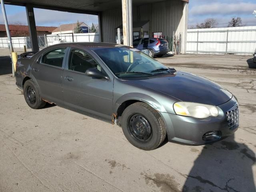
M 186 102 L 218 106 L 232 98 L 232 94 L 219 84 L 183 71 L 166 76 L 128 81 Z

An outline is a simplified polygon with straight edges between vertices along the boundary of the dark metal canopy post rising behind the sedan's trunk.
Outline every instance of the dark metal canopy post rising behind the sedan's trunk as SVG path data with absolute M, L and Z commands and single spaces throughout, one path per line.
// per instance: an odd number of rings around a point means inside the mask
M 28 29 L 29 29 L 29 36 L 30 36 L 30 44 L 32 47 L 32 51 L 39 51 L 38 39 L 36 34 L 36 21 L 34 15 L 34 8 L 30 5 L 26 5 L 26 13 L 28 19 Z

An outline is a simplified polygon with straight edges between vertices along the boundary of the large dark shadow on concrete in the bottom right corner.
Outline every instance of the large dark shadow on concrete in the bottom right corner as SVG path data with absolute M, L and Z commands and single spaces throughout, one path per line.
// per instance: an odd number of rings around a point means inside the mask
M 246 144 L 235 142 L 234 135 L 208 144 L 186 175 L 182 192 L 255 192 L 255 162 L 254 152 Z

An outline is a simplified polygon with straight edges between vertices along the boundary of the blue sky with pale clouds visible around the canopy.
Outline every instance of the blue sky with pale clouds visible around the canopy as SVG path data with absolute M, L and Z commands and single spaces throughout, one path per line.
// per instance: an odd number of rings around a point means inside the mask
M 218 27 L 226 27 L 232 17 L 239 16 L 245 26 L 256 26 L 256 18 L 252 16 L 253 10 L 256 10 L 256 0 L 190 0 L 188 24 L 196 25 L 206 18 L 215 18 L 218 21 Z M 43 9 L 34 9 L 34 12 L 38 26 L 58 26 L 77 20 L 88 21 L 89 25 L 92 22 L 98 23 L 98 17 L 92 15 Z M 16 22 L 27 24 L 24 7 L 6 5 L 6 13 L 9 24 Z M 0 23 L 4 23 L 1 10 Z

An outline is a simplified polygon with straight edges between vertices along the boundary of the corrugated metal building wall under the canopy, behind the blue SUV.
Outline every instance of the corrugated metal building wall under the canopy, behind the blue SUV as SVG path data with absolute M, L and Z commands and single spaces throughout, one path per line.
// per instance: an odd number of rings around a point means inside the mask
M 164 36 L 176 36 L 180 33 L 186 35 L 186 21 L 184 20 L 184 6 L 186 2 L 181 0 L 167 0 L 163 2 L 133 6 L 133 21 L 150 21 L 150 31 L 162 32 Z M 102 12 L 102 38 L 104 42 L 116 42 L 115 28 L 122 24 L 122 10 L 109 10 Z

